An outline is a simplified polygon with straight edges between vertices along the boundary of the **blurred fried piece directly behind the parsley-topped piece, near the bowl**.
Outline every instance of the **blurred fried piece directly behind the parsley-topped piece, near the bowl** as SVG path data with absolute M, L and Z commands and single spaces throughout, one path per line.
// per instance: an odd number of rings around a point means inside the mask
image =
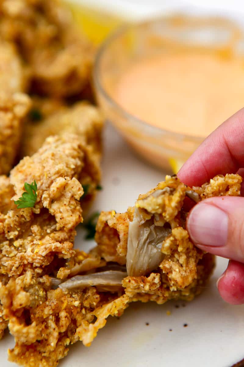
M 31 112 L 40 113 L 44 119 L 31 121 Z M 35 99 L 31 112 L 29 120 L 25 122 L 25 134 L 20 148 L 21 156 L 33 155 L 49 135 L 59 134 L 65 137 L 66 134 L 76 134 L 86 150 L 79 181 L 86 188 L 82 208 L 87 212 L 101 181 L 103 119 L 100 111 L 87 102 L 76 103 L 68 108 L 55 99 L 49 102 L 44 100 L 42 103 L 40 99 Z

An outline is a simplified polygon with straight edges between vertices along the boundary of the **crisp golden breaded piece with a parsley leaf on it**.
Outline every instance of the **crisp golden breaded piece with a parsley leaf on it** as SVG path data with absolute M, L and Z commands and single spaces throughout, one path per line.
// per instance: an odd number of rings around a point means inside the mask
M 83 147 L 75 135 L 49 137 L 37 153 L 20 161 L 9 179 L 1 178 L 2 192 L 7 197 L 11 193 L 9 207 L 4 203 L 0 215 L 1 274 L 18 276 L 27 269 L 40 274 L 55 254 L 68 258 L 74 253 L 75 227 L 82 221 L 78 178 L 83 166 Z M 18 209 L 13 200 L 22 196 L 25 182 L 34 180 L 34 207 Z

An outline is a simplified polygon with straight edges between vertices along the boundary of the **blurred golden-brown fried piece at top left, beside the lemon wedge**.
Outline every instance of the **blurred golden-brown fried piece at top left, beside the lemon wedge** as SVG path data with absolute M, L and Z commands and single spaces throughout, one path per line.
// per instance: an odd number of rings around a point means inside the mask
M 65 97 L 90 83 L 93 46 L 58 0 L 1 1 L 0 38 L 18 46 L 30 68 L 32 90 Z

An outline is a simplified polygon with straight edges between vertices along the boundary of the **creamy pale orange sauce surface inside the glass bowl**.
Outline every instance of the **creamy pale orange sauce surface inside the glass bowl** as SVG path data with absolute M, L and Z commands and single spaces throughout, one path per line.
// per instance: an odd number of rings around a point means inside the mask
M 244 107 L 244 61 L 198 51 L 144 57 L 122 73 L 113 97 L 153 126 L 206 137 Z

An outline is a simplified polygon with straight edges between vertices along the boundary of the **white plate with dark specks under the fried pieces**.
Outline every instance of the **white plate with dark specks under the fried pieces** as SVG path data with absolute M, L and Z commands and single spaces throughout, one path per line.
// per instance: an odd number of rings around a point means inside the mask
M 145 193 L 163 179 L 164 173 L 137 159 L 109 126 L 105 130 L 103 190 L 92 211 L 125 211 L 139 193 Z M 76 246 L 88 250 L 94 242 L 84 243 L 79 230 Z M 109 317 L 90 348 L 76 343 L 59 366 L 232 366 L 244 357 L 244 306 L 228 305 L 218 295 L 216 280 L 226 264 L 225 259 L 218 259 L 209 286 L 192 302 L 164 305 L 137 302 L 120 319 Z M 13 345 L 10 335 L 0 342 L 2 367 L 13 366 L 7 361 L 7 349 Z

